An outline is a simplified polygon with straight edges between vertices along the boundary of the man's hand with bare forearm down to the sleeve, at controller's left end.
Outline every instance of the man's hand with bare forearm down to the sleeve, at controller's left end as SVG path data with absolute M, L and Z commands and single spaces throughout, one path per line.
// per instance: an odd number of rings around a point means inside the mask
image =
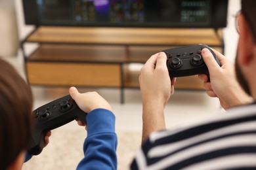
M 142 142 L 150 133 L 165 129 L 163 110 L 174 93 L 175 78 L 169 78 L 164 52 L 151 56 L 142 67 L 139 76 L 142 98 Z

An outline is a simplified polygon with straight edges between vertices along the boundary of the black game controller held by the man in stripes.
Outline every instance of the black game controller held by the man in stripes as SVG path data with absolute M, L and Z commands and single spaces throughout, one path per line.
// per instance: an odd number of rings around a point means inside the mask
M 205 74 L 209 77 L 209 71 L 203 62 L 201 55 L 203 48 L 208 48 L 213 54 L 213 57 L 217 63 L 221 66 L 221 63 L 213 50 L 211 50 L 211 48 L 205 44 L 171 48 L 163 50 L 163 52 L 165 52 L 167 55 L 167 68 L 169 71 L 169 76 L 173 78 L 179 76 Z

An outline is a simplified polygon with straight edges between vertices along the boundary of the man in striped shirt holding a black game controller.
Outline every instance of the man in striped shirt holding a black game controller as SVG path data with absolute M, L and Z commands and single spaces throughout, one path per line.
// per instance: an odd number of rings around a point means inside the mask
M 131 169 L 256 169 L 256 1 L 242 0 L 237 16 L 240 39 L 234 65 L 219 52 L 202 50 L 211 82 L 199 75 L 210 97 L 226 113 L 180 129 L 165 130 L 164 108 L 174 93 L 166 55 L 155 54 L 140 72 L 142 148 Z M 236 81 L 236 76 L 238 83 Z M 242 88 L 241 88 L 241 86 Z

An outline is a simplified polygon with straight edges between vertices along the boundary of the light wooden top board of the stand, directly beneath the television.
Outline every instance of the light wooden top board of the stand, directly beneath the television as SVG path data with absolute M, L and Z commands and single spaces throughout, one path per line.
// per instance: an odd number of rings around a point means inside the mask
M 211 46 L 222 44 L 222 30 L 120 28 L 120 27 L 38 27 L 26 42 L 73 43 L 104 45 L 181 45 L 207 42 Z

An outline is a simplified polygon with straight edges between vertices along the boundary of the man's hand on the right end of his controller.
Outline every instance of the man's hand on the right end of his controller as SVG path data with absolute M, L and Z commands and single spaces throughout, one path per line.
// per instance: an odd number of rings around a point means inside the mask
M 234 63 L 223 54 L 212 50 L 221 62 L 221 67 L 213 58 L 213 54 L 207 48 L 203 48 L 202 57 L 209 70 L 211 82 L 208 82 L 209 78 L 206 75 L 198 75 L 203 80 L 207 95 L 218 97 L 223 109 L 251 102 L 251 97 L 242 90 L 236 80 Z

